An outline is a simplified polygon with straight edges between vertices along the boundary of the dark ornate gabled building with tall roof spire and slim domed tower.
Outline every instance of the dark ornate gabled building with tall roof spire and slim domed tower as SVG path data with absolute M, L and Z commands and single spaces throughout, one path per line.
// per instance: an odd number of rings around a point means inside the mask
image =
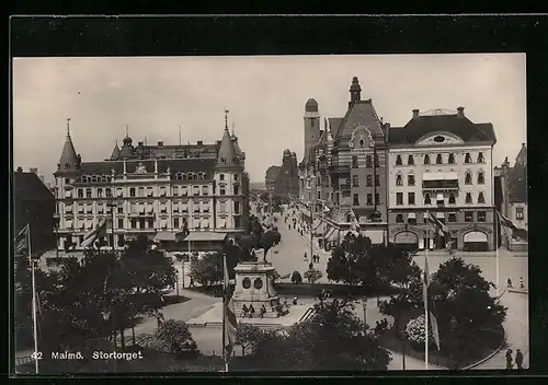
M 372 100 L 362 100 L 357 78 L 342 118 L 323 119 L 318 103 L 305 105 L 305 156 L 299 166 L 299 198 L 305 214 L 327 242 L 358 231 L 383 243 L 387 236 L 387 130 Z M 318 138 L 318 139 L 316 139 Z M 318 231 L 319 230 L 319 231 Z

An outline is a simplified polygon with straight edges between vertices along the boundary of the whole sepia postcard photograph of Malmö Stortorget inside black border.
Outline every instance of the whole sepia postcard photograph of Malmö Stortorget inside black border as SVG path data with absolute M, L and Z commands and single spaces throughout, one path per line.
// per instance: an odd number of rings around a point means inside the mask
M 12 82 L 16 373 L 529 368 L 525 54 Z

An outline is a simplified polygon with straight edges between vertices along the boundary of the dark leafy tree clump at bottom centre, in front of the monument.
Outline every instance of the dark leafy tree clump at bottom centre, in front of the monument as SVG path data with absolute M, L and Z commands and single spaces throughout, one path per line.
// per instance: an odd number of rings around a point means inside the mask
M 386 370 L 390 354 L 345 301 L 322 301 L 309 320 L 256 343 L 250 363 L 264 370 Z

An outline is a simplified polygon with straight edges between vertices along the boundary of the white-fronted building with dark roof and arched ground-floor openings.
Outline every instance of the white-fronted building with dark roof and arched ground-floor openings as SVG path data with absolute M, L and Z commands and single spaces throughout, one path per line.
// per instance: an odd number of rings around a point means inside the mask
M 389 129 L 389 241 L 409 249 L 494 249 L 490 122 L 475 124 L 456 112 L 413 109 L 404 127 Z M 444 222 L 452 240 L 433 234 L 426 213 Z M 430 229 L 430 230 L 429 230 Z

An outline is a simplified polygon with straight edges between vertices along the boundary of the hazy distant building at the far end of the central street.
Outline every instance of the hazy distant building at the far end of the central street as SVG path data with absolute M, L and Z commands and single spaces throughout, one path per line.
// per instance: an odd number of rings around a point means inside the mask
M 284 150 L 282 166 L 271 166 L 266 170 L 266 190 L 273 196 L 290 199 L 299 195 L 299 175 L 297 155 Z

